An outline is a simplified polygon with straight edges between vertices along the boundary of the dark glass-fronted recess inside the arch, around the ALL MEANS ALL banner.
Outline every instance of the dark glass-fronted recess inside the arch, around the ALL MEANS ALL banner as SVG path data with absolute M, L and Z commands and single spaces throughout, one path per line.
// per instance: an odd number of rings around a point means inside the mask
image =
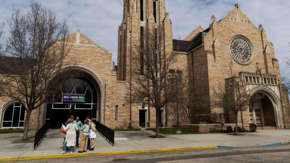
M 63 102 L 62 94 L 85 94 L 85 102 Z M 63 91 L 56 93 L 58 100 L 47 103 L 46 121 L 50 121 L 51 128 L 60 128 L 61 124 L 66 123 L 66 118 L 71 115 L 79 117 L 82 123 L 86 116 L 97 120 L 97 90 L 94 85 L 85 78 L 73 78 L 67 81 Z M 55 99 L 55 97 L 53 97 Z

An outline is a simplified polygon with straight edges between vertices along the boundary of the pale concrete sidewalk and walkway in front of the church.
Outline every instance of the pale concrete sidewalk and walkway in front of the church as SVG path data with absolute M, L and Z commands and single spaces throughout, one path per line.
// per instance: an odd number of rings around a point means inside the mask
M 148 137 L 155 135 L 152 131 L 116 131 L 114 146 L 97 134 L 97 138 L 95 138 L 94 151 L 88 150 L 87 153 L 214 145 L 250 147 L 268 145 L 277 142 L 290 142 L 290 130 L 286 129 L 258 130 L 255 133 L 241 134 L 243 134 L 243 136 L 232 136 L 226 133 L 163 135 L 166 138 L 153 139 Z M 60 155 L 60 152 L 62 151 L 63 134 L 60 133 L 58 129 L 50 129 L 35 150 L 33 148 L 33 143 L 10 144 L 15 139 L 21 139 L 21 136 L 22 134 L 0 134 L 0 158 Z M 74 154 L 78 154 L 77 151 L 79 151 L 79 148 L 75 150 Z M 67 152 L 64 155 L 67 154 L 70 154 L 70 152 Z

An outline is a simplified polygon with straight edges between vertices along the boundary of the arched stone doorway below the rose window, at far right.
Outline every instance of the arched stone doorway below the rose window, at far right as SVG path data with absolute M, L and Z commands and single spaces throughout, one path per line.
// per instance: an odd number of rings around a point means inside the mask
M 263 123 L 263 126 L 283 127 L 283 118 L 279 97 L 267 87 L 257 87 L 252 90 L 252 95 L 262 93 L 263 98 L 255 103 L 249 104 L 250 123 Z

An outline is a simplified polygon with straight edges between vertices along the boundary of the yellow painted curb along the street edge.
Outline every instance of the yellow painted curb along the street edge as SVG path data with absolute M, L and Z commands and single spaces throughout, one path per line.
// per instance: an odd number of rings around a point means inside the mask
M 42 156 L 7 157 L 7 158 L 0 158 L 0 161 L 19 161 L 19 160 L 35 160 L 35 159 L 45 159 L 45 158 L 84 157 L 84 156 L 95 156 L 95 155 L 117 155 L 117 154 L 127 154 L 127 153 L 170 152 L 170 151 L 181 151 L 181 150 L 192 150 L 192 149 L 210 149 L 210 148 L 218 148 L 218 146 L 145 149 L 145 150 L 133 150 L 133 151 L 80 153 L 80 154 L 67 154 L 67 155 L 42 155 Z

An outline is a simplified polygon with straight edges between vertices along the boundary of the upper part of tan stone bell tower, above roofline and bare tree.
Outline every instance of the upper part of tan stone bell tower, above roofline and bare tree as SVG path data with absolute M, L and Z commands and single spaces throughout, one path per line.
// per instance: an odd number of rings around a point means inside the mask
M 140 41 L 145 30 L 163 25 L 172 45 L 172 27 L 165 12 L 165 0 L 124 0 L 123 20 L 118 30 L 117 80 L 126 81 L 132 43 Z M 168 31 L 167 31 L 168 30 Z

